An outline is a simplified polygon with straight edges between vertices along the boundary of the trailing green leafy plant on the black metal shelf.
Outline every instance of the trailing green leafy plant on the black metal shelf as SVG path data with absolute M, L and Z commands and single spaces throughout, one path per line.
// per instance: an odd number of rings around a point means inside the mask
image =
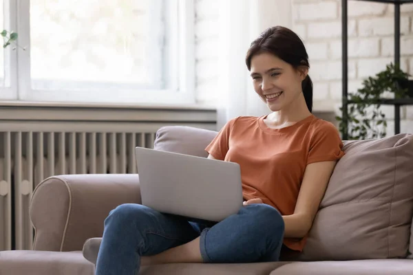
M 384 71 L 363 80 L 357 92 L 349 94 L 348 124 L 343 123 L 342 117 L 336 116 L 341 133 L 348 133 L 347 140 L 385 137 L 387 120 L 380 109 L 383 94 L 390 92 L 394 98 L 406 98 L 407 89 L 402 89 L 399 83 L 407 80 L 408 76 L 399 66 L 390 63 Z M 343 108 L 340 110 L 343 111 Z

